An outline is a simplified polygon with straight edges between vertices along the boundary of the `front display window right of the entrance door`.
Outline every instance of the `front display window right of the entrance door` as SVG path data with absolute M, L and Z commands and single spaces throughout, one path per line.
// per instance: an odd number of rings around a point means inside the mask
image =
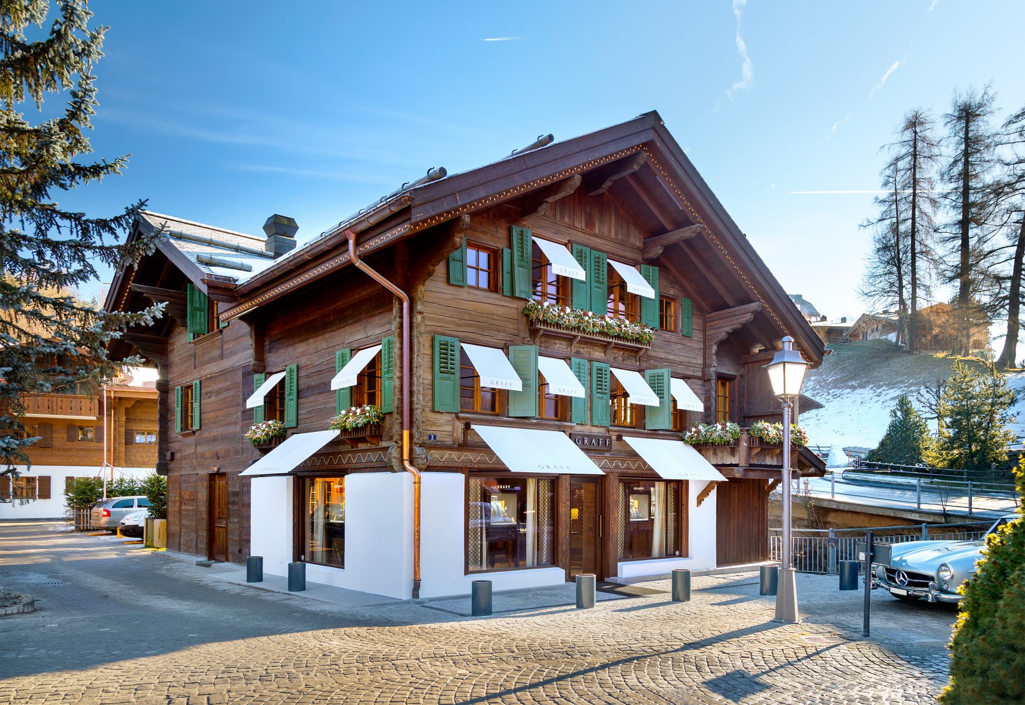
M 681 484 L 627 480 L 619 483 L 619 557 L 623 561 L 680 555 Z

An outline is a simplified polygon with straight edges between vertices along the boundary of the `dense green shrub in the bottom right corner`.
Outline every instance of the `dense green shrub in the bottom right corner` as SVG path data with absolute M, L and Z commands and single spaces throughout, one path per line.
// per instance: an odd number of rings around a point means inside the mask
M 1025 467 L 1015 468 L 1025 501 Z M 959 588 L 943 705 L 1025 703 L 1025 510 L 986 539 L 975 576 Z

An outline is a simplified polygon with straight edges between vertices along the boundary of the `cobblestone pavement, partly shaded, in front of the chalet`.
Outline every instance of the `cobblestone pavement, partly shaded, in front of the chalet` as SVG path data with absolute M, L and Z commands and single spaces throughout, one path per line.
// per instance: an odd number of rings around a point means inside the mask
M 343 608 L 55 529 L 0 524 L 0 586 L 41 598 L 0 619 L 0 703 L 929 703 L 955 617 L 876 591 L 862 640 L 861 593 L 802 576 L 779 625 L 749 574 L 686 604 Z

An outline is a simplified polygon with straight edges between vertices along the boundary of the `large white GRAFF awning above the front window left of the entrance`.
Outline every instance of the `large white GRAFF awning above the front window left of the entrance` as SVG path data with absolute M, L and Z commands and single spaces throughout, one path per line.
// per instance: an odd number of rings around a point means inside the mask
M 604 474 L 570 437 L 558 430 L 470 424 L 514 472 Z

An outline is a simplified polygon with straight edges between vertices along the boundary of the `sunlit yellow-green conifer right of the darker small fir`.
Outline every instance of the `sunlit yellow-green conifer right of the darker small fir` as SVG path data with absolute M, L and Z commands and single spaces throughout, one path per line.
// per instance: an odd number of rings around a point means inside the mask
M 992 364 L 955 361 L 953 374 L 940 399 L 940 428 L 931 465 L 966 470 L 989 469 L 991 463 L 1008 459 L 1008 444 L 1015 433 L 1008 424 L 1015 420 L 1010 409 L 1015 395 L 1006 376 Z

